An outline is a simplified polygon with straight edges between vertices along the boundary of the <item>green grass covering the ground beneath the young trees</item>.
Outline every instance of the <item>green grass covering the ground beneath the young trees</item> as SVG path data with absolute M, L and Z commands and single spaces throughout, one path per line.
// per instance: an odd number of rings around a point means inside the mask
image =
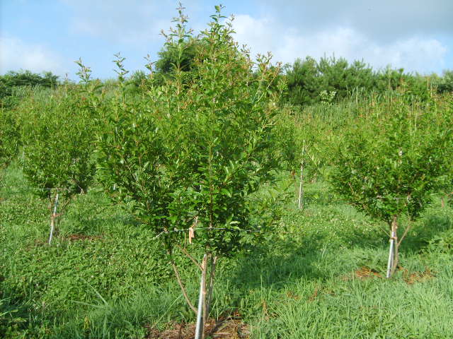
M 147 328 L 193 321 L 153 234 L 99 191 L 76 198 L 47 246 L 47 203 L 16 165 L 0 187 L 0 336 L 146 338 Z M 453 210 L 440 199 L 382 278 L 382 225 L 306 186 L 274 234 L 219 263 L 212 316 L 236 312 L 251 338 L 452 338 Z M 178 258 L 194 300 L 198 277 Z

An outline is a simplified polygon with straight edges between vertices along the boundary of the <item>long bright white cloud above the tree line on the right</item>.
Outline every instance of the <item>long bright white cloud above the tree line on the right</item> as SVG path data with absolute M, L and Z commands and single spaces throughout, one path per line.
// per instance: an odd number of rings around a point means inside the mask
M 349 61 L 364 60 L 379 69 L 391 64 L 406 71 L 429 73 L 445 65 L 447 47 L 430 37 L 412 36 L 388 42 L 372 40 L 357 30 L 337 26 L 306 32 L 294 26 L 279 25 L 275 18 L 236 16 L 236 40 L 247 44 L 251 52 L 272 51 L 276 61 L 292 62 L 306 56 L 344 57 Z

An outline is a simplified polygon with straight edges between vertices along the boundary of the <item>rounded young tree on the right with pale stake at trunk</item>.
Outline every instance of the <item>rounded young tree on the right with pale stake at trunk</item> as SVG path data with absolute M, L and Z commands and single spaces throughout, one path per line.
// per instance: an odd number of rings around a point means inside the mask
M 398 220 L 414 220 L 430 203 L 452 159 L 452 112 L 402 102 L 357 121 L 336 151 L 333 189 L 353 206 L 389 225 L 387 278 L 398 266 Z

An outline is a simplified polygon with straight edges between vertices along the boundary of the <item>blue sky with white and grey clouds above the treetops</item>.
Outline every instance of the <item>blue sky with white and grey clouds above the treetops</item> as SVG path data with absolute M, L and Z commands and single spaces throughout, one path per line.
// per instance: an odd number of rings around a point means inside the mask
M 307 56 L 362 60 L 374 69 L 422 74 L 453 69 L 453 0 L 186 0 L 195 32 L 214 5 L 234 15 L 234 35 L 274 61 Z M 76 80 L 81 58 L 96 78 L 114 78 L 114 54 L 129 71 L 156 60 L 177 15 L 170 0 L 0 0 L 0 73 L 52 71 Z

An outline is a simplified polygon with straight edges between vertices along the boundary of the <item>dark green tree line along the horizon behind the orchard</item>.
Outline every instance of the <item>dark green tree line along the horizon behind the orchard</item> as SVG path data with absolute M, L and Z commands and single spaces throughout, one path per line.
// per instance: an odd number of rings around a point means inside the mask
M 201 40 L 193 39 L 183 42 L 180 52 L 164 47 L 159 58 L 152 65 L 153 75 L 145 71 L 134 71 L 125 77 L 130 91 L 142 92 L 141 89 L 151 85 L 161 85 L 164 79 L 174 76 L 174 65 L 180 64 L 185 73 L 185 81 L 190 81 L 190 71 L 196 64 L 198 51 L 203 48 Z M 348 61 L 343 57 L 297 58 L 292 64 L 285 64 L 280 69 L 281 78 L 285 78 L 287 89 L 282 102 L 291 105 L 312 105 L 318 102 L 339 102 L 350 97 L 367 95 L 386 95 L 399 93 L 407 100 L 428 100 L 433 93 L 453 92 L 453 71 L 445 70 L 442 75 L 432 73 L 421 75 L 411 73 L 403 68 L 373 69 L 365 61 Z M 61 85 L 59 77 L 52 72 L 42 74 L 31 71 L 9 71 L 0 76 L 0 105 L 11 107 L 20 96 L 18 88 L 40 86 L 54 88 Z M 104 82 L 109 82 L 104 81 Z M 113 81 L 115 83 L 115 81 Z M 277 83 L 277 81 L 275 81 Z

